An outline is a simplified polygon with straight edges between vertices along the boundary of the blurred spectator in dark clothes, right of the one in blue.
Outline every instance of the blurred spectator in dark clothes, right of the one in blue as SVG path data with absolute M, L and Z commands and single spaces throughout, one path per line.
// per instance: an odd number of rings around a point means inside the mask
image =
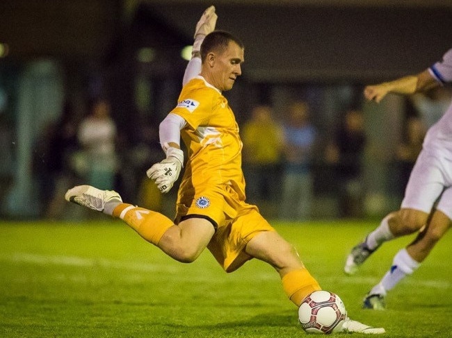
M 362 217 L 364 184 L 362 164 L 366 135 L 360 110 L 348 110 L 326 149 L 326 161 L 334 164 L 338 183 L 339 215 Z

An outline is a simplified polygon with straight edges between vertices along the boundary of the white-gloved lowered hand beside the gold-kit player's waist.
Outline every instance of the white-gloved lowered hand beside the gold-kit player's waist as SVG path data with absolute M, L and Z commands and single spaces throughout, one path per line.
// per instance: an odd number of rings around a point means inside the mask
M 160 192 L 164 194 L 170 191 L 179 178 L 184 162 L 184 152 L 171 147 L 167 149 L 166 156 L 165 160 L 154 164 L 146 171 L 147 177 L 154 180 Z

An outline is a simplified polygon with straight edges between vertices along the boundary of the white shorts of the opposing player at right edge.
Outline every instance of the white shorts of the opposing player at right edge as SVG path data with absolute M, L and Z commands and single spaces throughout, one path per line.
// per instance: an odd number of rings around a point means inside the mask
M 422 150 L 411 171 L 401 208 L 430 214 L 437 202 L 437 210 L 452 219 L 451 185 L 452 162 L 435 152 Z

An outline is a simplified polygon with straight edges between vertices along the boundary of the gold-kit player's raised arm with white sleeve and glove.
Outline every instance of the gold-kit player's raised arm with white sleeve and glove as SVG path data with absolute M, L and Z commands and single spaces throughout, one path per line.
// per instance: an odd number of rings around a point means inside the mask
M 215 7 L 210 6 L 202 13 L 200 20 L 196 24 L 195 28 L 195 42 L 193 43 L 193 51 L 191 52 L 191 60 L 185 69 L 184 80 L 182 85 L 185 85 L 192 78 L 200 74 L 201 71 L 201 44 L 204 41 L 204 37 L 207 34 L 215 30 L 217 15 Z

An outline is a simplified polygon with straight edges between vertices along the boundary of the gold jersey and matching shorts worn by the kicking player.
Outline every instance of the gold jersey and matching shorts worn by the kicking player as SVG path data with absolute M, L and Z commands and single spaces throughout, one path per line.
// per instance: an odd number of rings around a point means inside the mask
M 186 217 L 207 218 L 216 228 L 209 251 L 227 272 L 251 258 L 246 244 L 274 229 L 255 205 L 245 203 L 239 126 L 225 96 L 204 78 L 188 82 L 172 110 L 184 118 L 181 137 L 188 149 L 177 198 L 176 223 Z

